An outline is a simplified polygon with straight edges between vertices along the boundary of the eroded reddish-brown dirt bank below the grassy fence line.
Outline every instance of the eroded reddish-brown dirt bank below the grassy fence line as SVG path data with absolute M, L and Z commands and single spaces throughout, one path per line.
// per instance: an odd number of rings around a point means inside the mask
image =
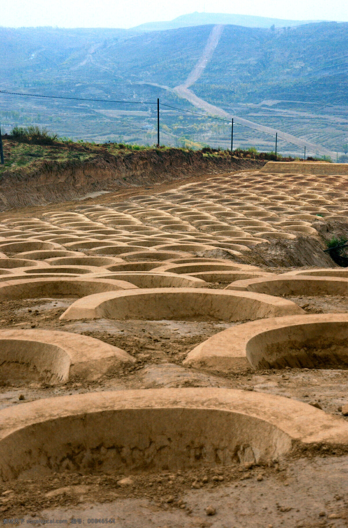
M 265 161 L 204 156 L 181 149 L 151 149 L 113 156 L 107 152 L 86 161 L 43 161 L 30 170 L 7 170 L 0 181 L 0 210 L 74 200 L 94 191 L 160 184 L 188 176 L 257 169 Z

